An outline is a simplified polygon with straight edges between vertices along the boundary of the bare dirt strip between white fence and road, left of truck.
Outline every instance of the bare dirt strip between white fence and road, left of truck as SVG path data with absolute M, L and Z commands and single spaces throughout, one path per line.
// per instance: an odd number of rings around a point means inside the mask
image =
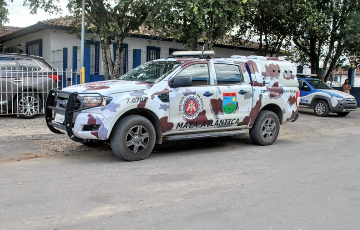
M 107 148 L 111 150 L 110 146 L 102 147 L 103 150 Z M 33 119 L 0 116 L 0 162 L 97 150 L 72 141 L 66 134 L 52 133 L 44 115 Z

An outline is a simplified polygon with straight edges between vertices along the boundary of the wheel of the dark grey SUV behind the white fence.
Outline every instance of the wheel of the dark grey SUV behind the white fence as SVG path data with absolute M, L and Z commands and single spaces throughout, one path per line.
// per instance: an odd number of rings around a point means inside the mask
M 15 113 L 24 119 L 34 118 L 42 110 L 42 101 L 36 94 L 22 93 L 15 100 Z

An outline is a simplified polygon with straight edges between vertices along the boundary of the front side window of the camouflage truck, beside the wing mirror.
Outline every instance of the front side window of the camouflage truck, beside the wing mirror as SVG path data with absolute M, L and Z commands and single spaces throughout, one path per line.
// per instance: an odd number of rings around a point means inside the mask
M 210 85 L 209 68 L 206 63 L 188 66 L 183 69 L 177 76 L 190 77 L 193 86 Z

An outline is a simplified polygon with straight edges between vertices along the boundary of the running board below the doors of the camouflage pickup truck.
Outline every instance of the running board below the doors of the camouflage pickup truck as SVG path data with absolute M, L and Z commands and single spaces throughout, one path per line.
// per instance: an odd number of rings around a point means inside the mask
M 199 138 L 220 137 L 220 136 L 236 136 L 243 134 L 246 134 L 245 130 L 231 130 L 231 131 L 206 132 L 206 133 L 194 133 L 194 134 L 182 134 L 182 135 L 169 135 L 169 136 L 163 136 L 163 139 L 186 140 L 186 139 L 199 139 Z

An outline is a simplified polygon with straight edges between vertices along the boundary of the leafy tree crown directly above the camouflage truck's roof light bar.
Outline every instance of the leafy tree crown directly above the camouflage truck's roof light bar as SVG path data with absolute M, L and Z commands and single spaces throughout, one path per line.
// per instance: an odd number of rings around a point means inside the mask
M 168 0 L 160 18 L 149 23 L 167 37 L 181 41 L 188 50 L 197 50 L 199 41 L 210 50 L 230 32 L 242 13 L 242 0 Z

